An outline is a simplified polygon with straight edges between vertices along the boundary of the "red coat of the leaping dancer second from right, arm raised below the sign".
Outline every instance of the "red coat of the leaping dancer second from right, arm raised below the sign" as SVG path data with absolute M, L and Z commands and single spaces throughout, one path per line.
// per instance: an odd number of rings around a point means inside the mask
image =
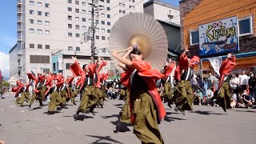
M 188 70 L 189 67 L 193 69 L 195 62 L 200 62 L 200 58 L 198 56 L 194 56 L 193 58 L 190 59 L 190 62 L 189 62 L 189 58 L 186 56 L 186 54 L 184 54 L 179 57 L 178 62 L 179 63 L 178 63 L 178 66 L 176 67 L 174 78 L 178 81 L 181 81 L 182 70 Z

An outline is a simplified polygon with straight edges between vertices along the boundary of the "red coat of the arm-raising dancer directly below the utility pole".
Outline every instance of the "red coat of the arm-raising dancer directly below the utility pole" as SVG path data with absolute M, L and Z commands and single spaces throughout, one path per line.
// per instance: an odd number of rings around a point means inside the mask
M 93 77 L 95 70 L 96 70 L 96 65 L 90 64 L 88 66 L 89 66 L 89 70 L 90 70 L 89 76 Z M 81 85 L 80 85 L 80 90 L 81 90 L 85 84 L 86 71 L 82 70 L 82 68 L 79 66 L 79 63 L 77 61 L 74 62 L 74 64 L 70 66 L 70 70 L 71 70 L 72 74 L 74 75 L 74 77 L 81 76 Z

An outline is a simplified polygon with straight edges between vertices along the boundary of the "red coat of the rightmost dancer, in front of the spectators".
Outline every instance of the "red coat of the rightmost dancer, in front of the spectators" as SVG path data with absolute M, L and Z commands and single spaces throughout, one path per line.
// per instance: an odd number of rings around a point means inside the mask
M 237 64 L 235 63 L 235 56 L 233 56 L 232 58 L 226 58 L 222 62 L 222 66 L 219 69 L 219 74 L 221 77 L 219 79 L 218 89 L 221 88 L 222 83 L 224 82 L 225 76 L 230 74 L 230 71 L 233 70 L 236 65 Z

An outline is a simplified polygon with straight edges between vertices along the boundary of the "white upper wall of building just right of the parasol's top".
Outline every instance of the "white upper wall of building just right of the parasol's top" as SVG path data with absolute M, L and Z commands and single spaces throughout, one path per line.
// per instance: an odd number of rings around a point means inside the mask
M 180 25 L 178 6 L 158 0 L 149 0 L 144 4 L 144 13 L 152 15 L 155 19 L 162 22 L 172 22 Z

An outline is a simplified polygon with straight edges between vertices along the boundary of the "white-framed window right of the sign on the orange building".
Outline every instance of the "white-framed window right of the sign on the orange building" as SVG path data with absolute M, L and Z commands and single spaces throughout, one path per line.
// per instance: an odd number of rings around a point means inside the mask
M 252 27 L 252 18 L 242 18 L 238 19 L 238 26 L 239 26 L 239 36 L 245 36 L 253 34 L 253 27 Z

